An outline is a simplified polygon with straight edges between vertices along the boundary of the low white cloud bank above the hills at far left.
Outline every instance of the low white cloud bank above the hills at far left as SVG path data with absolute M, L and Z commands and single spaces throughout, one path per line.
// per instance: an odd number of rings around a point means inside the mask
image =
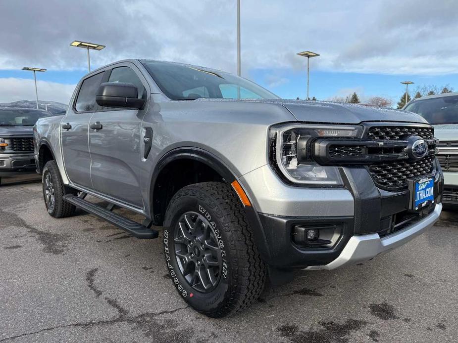
M 37 81 L 38 99 L 39 101 L 41 99 L 68 104 L 75 86 Z M 35 84 L 33 80 L 0 78 L 0 102 L 35 99 Z

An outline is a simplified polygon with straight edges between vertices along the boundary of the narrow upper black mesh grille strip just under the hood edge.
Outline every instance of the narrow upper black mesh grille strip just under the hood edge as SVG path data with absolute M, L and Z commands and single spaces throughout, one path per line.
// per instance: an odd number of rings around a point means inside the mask
M 431 139 L 434 137 L 434 129 L 432 127 L 415 126 L 381 126 L 371 127 L 367 131 L 367 138 L 373 140 L 405 140 L 410 136 Z

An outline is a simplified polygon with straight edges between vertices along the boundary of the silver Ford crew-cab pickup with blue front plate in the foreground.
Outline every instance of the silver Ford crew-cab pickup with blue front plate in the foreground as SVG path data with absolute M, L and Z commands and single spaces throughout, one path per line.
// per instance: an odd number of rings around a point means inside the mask
M 97 69 L 64 116 L 38 121 L 34 144 L 51 216 L 78 207 L 160 236 L 172 283 L 211 317 L 249 306 L 267 277 L 278 285 L 399 247 L 442 209 L 434 129 L 420 116 L 282 100 L 193 65 Z

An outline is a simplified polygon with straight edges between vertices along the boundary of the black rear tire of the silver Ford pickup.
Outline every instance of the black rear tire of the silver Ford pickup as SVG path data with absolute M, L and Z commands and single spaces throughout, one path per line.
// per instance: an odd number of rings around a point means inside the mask
M 54 195 L 53 206 L 47 198 L 47 180 L 51 180 L 52 183 Z M 48 161 L 43 168 L 42 182 L 43 198 L 45 199 L 45 205 L 48 213 L 54 218 L 64 218 L 73 215 L 76 210 L 75 206 L 67 203 L 63 199 L 63 196 L 67 193 L 76 194 L 76 190 L 68 191 L 68 189 L 64 186 L 62 179 L 60 178 L 59 169 L 54 160 Z

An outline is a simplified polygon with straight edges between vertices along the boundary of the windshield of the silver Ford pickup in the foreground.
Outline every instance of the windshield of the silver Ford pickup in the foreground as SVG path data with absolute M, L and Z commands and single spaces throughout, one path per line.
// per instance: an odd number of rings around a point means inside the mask
M 173 100 L 279 99 L 267 89 L 229 73 L 171 62 L 142 63 L 157 86 Z

